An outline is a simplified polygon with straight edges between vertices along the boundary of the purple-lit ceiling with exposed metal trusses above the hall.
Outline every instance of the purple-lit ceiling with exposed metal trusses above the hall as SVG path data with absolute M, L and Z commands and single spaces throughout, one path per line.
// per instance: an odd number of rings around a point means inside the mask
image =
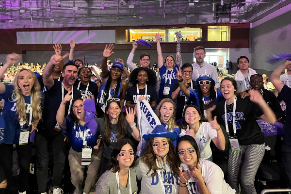
M 194 1 L 126 0 L 121 5 L 121 0 L 0 0 L 0 29 L 253 22 L 291 2 Z

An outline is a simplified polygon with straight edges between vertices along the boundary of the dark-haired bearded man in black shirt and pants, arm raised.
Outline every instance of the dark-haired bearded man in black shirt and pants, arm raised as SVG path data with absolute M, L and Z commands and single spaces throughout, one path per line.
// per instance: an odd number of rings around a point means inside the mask
M 53 170 L 53 194 L 61 194 L 63 191 L 62 177 L 65 165 L 65 137 L 62 134 L 60 126 L 56 121 L 56 114 L 59 106 L 68 92 L 71 92 L 72 99 L 65 105 L 65 115 L 70 113 L 72 100 L 81 98 L 77 88 L 73 86 L 77 80 L 78 68 L 73 63 L 67 63 L 62 70 L 64 81 L 53 79 L 55 64 L 65 59 L 61 55 L 53 55 L 43 71 L 43 83 L 47 91 L 44 102 L 43 120 L 38 126 L 35 134 L 35 146 L 37 155 L 36 176 L 39 192 L 47 193 L 48 164 L 49 164 L 49 147 L 52 147 L 54 170 Z

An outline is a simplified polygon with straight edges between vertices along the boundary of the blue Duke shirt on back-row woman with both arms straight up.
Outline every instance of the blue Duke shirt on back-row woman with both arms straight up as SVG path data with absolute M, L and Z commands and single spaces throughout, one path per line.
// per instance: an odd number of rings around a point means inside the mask
M 160 84 L 160 91 L 159 91 L 160 97 L 164 97 L 163 90 L 164 90 L 165 85 L 170 85 L 170 92 L 168 95 L 171 96 L 174 83 L 178 81 L 176 78 L 176 74 L 178 73 L 176 70 L 176 67 L 179 69 L 179 66 L 176 64 L 173 68 L 172 74 L 170 70 L 167 70 L 167 67 L 165 65 L 162 65 L 162 67 L 159 68 L 159 72 L 161 75 L 161 84 Z M 167 72 L 168 72 L 168 75 L 167 75 Z M 167 82 L 166 82 L 166 75 L 167 75 Z M 170 79 L 171 79 L 171 84 L 170 84 Z

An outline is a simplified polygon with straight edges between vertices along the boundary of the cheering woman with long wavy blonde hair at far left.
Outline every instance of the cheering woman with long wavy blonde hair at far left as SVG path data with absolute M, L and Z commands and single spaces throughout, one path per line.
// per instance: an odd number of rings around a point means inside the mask
M 12 64 L 16 64 L 19 55 L 13 53 L 7 56 L 7 61 L 0 69 L 0 77 Z M 19 192 L 28 190 L 32 142 L 36 126 L 41 119 L 44 95 L 40 85 L 30 69 L 18 71 L 12 85 L 0 82 L 0 97 L 5 100 L 3 117 L 5 121 L 4 140 L 0 145 L 0 166 L 8 179 L 7 191 L 12 190 L 10 183 L 12 169 L 13 145 L 20 163 Z

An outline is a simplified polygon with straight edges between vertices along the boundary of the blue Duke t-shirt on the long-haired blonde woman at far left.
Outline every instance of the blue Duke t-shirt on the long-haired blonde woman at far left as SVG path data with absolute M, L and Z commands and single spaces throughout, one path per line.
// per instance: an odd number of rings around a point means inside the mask
M 13 94 L 13 85 L 6 85 L 6 91 L 0 95 L 1 98 L 5 100 L 4 109 L 2 115 L 5 121 L 5 129 L 4 129 L 4 144 L 19 144 L 19 135 L 20 135 L 20 124 L 18 120 L 18 114 L 16 114 L 16 103 L 12 101 Z M 42 107 L 44 104 L 44 93 L 41 93 L 41 104 L 39 106 Z M 26 109 L 26 118 L 29 121 L 30 116 L 30 107 L 31 107 L 31 96 L 22 95 L 25 101 L 25 109 Z M 33 101 L 32 101 L 33 102 Z M 33 117 L 32 117 L 33 121 Z M 28 123 L 23 126 L 24 129 L 28 128 Z M 29 141 L 34 141 L 35 130 L 30 133 Z

